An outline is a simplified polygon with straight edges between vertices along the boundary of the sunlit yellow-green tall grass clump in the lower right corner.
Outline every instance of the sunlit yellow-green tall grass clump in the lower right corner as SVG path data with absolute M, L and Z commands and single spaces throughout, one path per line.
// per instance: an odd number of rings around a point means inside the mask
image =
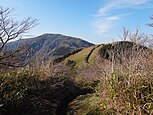
M 107 109 L 116 114 L 153 113 L 153 76 L 133 76 L 128 83 L 128 75 L 113 73 L 102 84 L 101 96 Z

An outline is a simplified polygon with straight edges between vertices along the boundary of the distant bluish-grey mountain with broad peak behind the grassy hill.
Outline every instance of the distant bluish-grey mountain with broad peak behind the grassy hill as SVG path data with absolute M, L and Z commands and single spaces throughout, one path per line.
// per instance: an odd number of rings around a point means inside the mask
M 26 61 L 31 61 L 35 58 L 39 60 L 55 59 L 76 49 L 92 45 L 92 43 L 75 37 L 61 34 L 43 34 L 35 38 L 10 42 L 7 44 L 7 50 L 16 49 L 17 46 L 24 46 L 24 48 L 31 50 L 31 53 L 26 57 Z

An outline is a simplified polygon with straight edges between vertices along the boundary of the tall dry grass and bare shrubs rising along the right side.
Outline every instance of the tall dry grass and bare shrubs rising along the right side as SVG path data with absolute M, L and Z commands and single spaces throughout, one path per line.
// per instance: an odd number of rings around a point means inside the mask
M 123 45 L 123 44 L 122 44 Z M 131 50 L 109 47 L 101 98 L 116 114 L 153 114 L 152 51 L 137 44 Z M 117 50 L 119 49 L 119 50 Z M 150 60 L 150 61 L 148 61 Z

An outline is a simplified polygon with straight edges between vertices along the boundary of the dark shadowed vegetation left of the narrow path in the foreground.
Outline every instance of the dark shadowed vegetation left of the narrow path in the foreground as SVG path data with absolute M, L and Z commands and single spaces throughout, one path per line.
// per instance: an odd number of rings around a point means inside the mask
M 78 95 L 93 92 L 91 86 L 86 83 L 80 85 L 67 74 L 61 70 L 48 76 L 48 73 L 37 69 L 1 73 L 0 114 L 64 113 L 66 104 Z

